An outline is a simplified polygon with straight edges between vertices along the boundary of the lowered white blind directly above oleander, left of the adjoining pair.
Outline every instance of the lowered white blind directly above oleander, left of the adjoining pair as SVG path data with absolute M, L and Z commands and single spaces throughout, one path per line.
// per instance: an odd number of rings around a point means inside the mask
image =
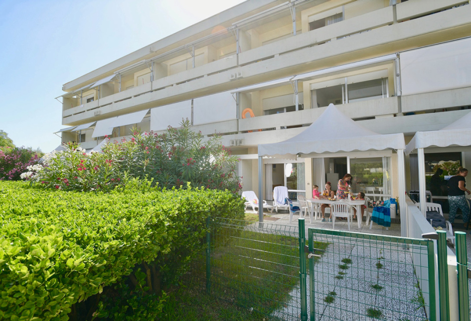
M 191 100 L 151 109 L 151 130 L 180 127 L 182 118 L 191 119 Z

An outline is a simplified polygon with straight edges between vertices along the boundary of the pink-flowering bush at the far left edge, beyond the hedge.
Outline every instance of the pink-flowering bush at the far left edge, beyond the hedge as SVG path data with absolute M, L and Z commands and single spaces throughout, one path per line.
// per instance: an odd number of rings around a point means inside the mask
M 39 161 L 39 155 L 25 147 L 0 147 L 0 181 L 19 181 L 28 166 Z

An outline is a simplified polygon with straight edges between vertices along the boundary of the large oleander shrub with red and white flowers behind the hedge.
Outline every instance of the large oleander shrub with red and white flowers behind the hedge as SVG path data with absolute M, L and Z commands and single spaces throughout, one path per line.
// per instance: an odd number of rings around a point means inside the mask
M 238 157 L 219 136 L 204 139 L 192 131 L 188 119 L 162 134 L 135 130 L 129 140 L 108 140 L 102 152 L 90 154 L 74 143 L 66 144 L 65 151 L 45 156 L 42 170 L 24 176 L 44 187 L 81 191 L 109 191 L 129 178 L 147 179 L 166 189 L 186 188 L 188 182 L 192 187 L 234 193 L 242 187 L 235 174 Z

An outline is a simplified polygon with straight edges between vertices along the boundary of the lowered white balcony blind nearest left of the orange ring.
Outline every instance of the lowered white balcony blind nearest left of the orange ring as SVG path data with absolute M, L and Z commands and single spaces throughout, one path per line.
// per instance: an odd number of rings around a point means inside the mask
M 236 101 L 230 92 L 222 92 L 193 100 L 193 124 L 236 119 Z

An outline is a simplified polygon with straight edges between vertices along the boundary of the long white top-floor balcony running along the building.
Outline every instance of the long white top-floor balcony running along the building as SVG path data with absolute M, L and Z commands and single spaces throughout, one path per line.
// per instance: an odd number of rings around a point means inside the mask
M 465 1 L 466 2 L 466 1 Z M 457 0 L 407 1 L 216 60 L 139 87 L 63 111 L 63 124 L 103 119 L 171 104 L 252 83 L 318 70 L 366 55 L 378 56 L 469 35 L 471 6 Z M 443 12 L 431 12 L 451 8 Z M 397 22 L 397 23 L 395 23 Z M 401 47 L 391 46 L 401 41 Z M 367 51 L 365 51 L 367 50 Z M 314 59 L 313 59 L 314 57 Z M 332 61 L 332 57 L 339 57 Z M 341 57 L 341 58 L 340 58 Z

